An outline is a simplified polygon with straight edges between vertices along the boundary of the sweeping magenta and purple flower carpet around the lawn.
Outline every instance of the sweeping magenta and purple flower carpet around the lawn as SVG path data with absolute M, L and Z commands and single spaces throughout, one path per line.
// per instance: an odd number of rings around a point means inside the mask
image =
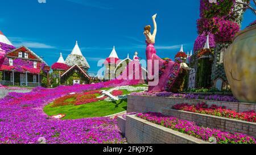
M 58 120 L 44 114 L 43 107 L 68 93 L 137 84 L 137 81 L 113 80 L 94 85 L 59 86 L 55 89 L 38 87 L 30 93 L 10 93 L 0 100 L 0 143 L 34 144 L 42 137 L 51 144 L 125 143 L 116 120 Z

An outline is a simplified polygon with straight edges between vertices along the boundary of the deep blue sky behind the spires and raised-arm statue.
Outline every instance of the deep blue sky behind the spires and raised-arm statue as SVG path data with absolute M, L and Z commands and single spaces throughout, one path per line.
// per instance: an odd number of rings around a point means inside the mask
M 42 1 L 42 0 L 41 0 Z M 106 58 L 115 45 L 119 58 L 127 53 L 146 58 L 143 27 L 158 13 L 156 49 L 160 57 L 174 58 L 180 45 L 193 49 L 197 37 L 199 0 L 0 0 L 0 30 L 16 45 L 25 45 L 48 65 L 62 52 L 71 53 L 76 40 L 91 69 L 97 73 L 97 61 Z M 255 20 L 247 10 L 242 29 Z

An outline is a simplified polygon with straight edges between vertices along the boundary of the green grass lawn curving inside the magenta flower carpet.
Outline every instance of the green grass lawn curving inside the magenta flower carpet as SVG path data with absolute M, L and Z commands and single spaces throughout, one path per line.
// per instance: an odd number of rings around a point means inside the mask
M 137 85 L 145 86 L 145 85 Z M 109 90 L 111 88 L 104 88 L 100 90 Z M 122 90 L 123 95 L 130 94 L 130 91 Z M 96 96 L 100 96 L 100 94 L 96 94 Z M 71 102 L 75 100 L 75 98 L 69 98 L 66 101 Z M 48 116 L 65 114 L 66 116 L 63 119 L 81 119 L 81 118 L 92 118 L 92 117 L 102 117 L 117 114 L 118 112 L 126 111 L 127 109 L 127 99 L 117 100 L 114 102 L 106 102 L 105 100 L 101 100 L 98 102 L 82 104 L 79 106 L 68 105 L 61 107 L 51 107 L 53 103 L 48 104 L 44 107 L 44 112 Z

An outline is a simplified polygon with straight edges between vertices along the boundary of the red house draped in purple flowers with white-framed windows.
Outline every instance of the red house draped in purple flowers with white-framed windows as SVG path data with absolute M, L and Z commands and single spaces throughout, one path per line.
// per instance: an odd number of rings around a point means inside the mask
M 0 48 L 5 51 L 5 59 L 0 68 L 0 84 L 10 86 L 47 86 L 50 67 L 27 47 L 15 48 L 0 33 Z

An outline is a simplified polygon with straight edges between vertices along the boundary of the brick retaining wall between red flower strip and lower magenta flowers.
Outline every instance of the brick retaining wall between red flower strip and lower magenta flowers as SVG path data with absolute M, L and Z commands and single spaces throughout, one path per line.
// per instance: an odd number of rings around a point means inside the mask
M 173 110 L 171 108 L 164 108 L 163 115 L 174 116 L 178 119 L 193 121 L 196 124 L 203 125 L 208 128 L 216 128 L 221 131 L 230 133 L 243 133 L 249 136 L 256 137 L 256 123 L 246 122 L 243 120 L 222 118 L 212 115 L 197 114 L 188 111 Z

